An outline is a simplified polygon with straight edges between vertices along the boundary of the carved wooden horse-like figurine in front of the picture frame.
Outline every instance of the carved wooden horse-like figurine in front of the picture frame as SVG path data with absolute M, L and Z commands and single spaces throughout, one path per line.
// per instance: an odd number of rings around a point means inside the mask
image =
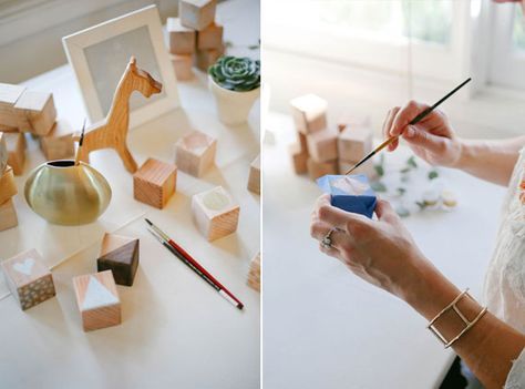
M 126 170 L 135 173 L 136 162 L 130 153 L 126 143 L 130 124 L 130 96 L 133 91 L 141 92 L 145 98 L 162 91 L 162 84 L 150 73 L 136 66 L 136 59 L 132 57 L 130 63 L 116 86 L 113 103 L 107 116 L 90 126 L 84 135 L 82 147 L 79 149 L 79 160 L 90 162 L 90 153 L 101 149 L 114 149 Z M 78 137 L 76 137 L 78 139 Z

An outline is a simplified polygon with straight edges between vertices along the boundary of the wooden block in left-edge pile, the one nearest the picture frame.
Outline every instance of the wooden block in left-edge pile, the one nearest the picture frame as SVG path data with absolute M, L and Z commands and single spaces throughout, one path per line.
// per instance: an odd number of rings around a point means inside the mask
M 56 119 L 53 94 L 49 92 L 25 90 L 17 100 L 14 109 L 28 120 L 28 124 L 19 130 L 37 135 L 47 135 Z

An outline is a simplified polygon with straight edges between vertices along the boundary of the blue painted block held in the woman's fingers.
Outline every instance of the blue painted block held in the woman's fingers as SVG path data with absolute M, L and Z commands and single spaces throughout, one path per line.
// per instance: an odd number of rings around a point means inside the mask
M 372 217 L 377 197 L 366 175 L 325 175 L 317 184 L 322 192 L 330 194 L 331 205 Z

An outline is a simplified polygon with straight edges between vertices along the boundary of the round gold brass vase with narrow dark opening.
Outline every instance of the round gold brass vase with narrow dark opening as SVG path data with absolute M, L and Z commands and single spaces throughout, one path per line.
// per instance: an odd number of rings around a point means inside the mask
M 74 161 L 51 161 L 29 175 L 24 188 L 31 209 L 48 222 L 81 225 L 96 221 L 110 205 L 111 187 L 90 165 Z

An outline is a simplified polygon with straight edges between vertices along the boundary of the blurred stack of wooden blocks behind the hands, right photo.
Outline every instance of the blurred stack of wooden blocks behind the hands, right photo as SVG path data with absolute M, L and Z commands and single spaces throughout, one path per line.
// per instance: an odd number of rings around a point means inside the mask
M 337 126 L 327 120 L 327 101 L 306 94 L 290 102 L 298 143 L 290 146 L 296 174 L 308 173 L 311 180 L 326 174 L 344 174 L 372 151 L 372 131 L 367 121 L 341 119 Z M 356 174 L 373 176 L 372 161 Z

